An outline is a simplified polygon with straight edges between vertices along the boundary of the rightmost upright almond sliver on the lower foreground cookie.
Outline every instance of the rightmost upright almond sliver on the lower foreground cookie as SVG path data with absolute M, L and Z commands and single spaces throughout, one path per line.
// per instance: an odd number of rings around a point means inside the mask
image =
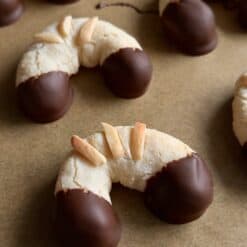
M 131 131 L 131 154 L 133 160 L 141 160 L 144 151 L 146 124 L 137 122 Z

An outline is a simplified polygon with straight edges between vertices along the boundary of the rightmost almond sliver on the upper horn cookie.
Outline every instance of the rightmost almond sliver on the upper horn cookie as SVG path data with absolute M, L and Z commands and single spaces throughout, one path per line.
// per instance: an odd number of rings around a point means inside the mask
M 78 45 L 82 46 L 85 43 L 88 43 L 92 39 L 92 35 L 95 29 L 95 26 L 98 22 L 98 17 L 93 17 L 89 19 L 80 29 L 78 36 Z

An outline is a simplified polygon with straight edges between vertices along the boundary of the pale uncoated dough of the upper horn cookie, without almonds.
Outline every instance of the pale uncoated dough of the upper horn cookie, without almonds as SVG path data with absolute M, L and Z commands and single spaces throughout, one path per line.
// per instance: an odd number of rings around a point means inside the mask
M 105 59 L 121 48 L 142 50 L 135 38 L 109 22 L 99 20 L 93 30 L 89 43 L 82 47 L 77 39 L 80 28 L 88 18 L 72 20 L 67 37 L 61 37 L 59 23 L 48 26 L 41 33 L 55 34 L 61 39 L 59 43 L 37 41 L 24 53 L 17 69 L 16 86 L 29 78 L 38 77 L 51 71 L 63 71 L 75 74 L 80 66 L 92 68 L 101 65 Z

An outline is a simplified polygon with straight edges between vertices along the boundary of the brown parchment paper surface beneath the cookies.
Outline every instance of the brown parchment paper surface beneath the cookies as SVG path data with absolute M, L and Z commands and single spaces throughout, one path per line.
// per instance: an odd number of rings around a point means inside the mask
M 231 130 L 235 79 L 247 70 L 247 33 L 233 14 L 214 6 L 219 45 L 203 57 L 177 53 L 162 39 L 158 18 L 131 9 L 94 10 L 98 0 L 68 6 L 26 1 L 22 19 L 0 29 L 0 246 L 56 247 L 53 236 L 53 187 L 59 164 L 70 150 L 70 136 L 88 135 L 100 122 L 132 124 L 181 138 L 202 154 L 215 182 L 214 203 L 198 221 L 168 225 L 153 217 L 137 192 L 114 186 L 113 205 L 120 215 L 120 246 L 247 246 L 247 169 Z M 147 9 L 157 1 L 129 1 Z M 153 81 L 137 100 L 115 98 L 100 74 L 82 69 L 72 79 L 74 103 L 65 117 L 39 125 L 25 119 L 15 105 L 15 70 L 35 32 L 65 14 L 99 15 L 133 34 L 150 54 Z

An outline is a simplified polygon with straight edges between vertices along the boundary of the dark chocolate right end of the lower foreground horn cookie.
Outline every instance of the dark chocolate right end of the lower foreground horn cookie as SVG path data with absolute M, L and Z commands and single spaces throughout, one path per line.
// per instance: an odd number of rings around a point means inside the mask
M 196 154 L 169 163 L 148 181 L 145 190 L 147 207 L 172 224 L 199 218 L 212 200 L 211 175 Z

